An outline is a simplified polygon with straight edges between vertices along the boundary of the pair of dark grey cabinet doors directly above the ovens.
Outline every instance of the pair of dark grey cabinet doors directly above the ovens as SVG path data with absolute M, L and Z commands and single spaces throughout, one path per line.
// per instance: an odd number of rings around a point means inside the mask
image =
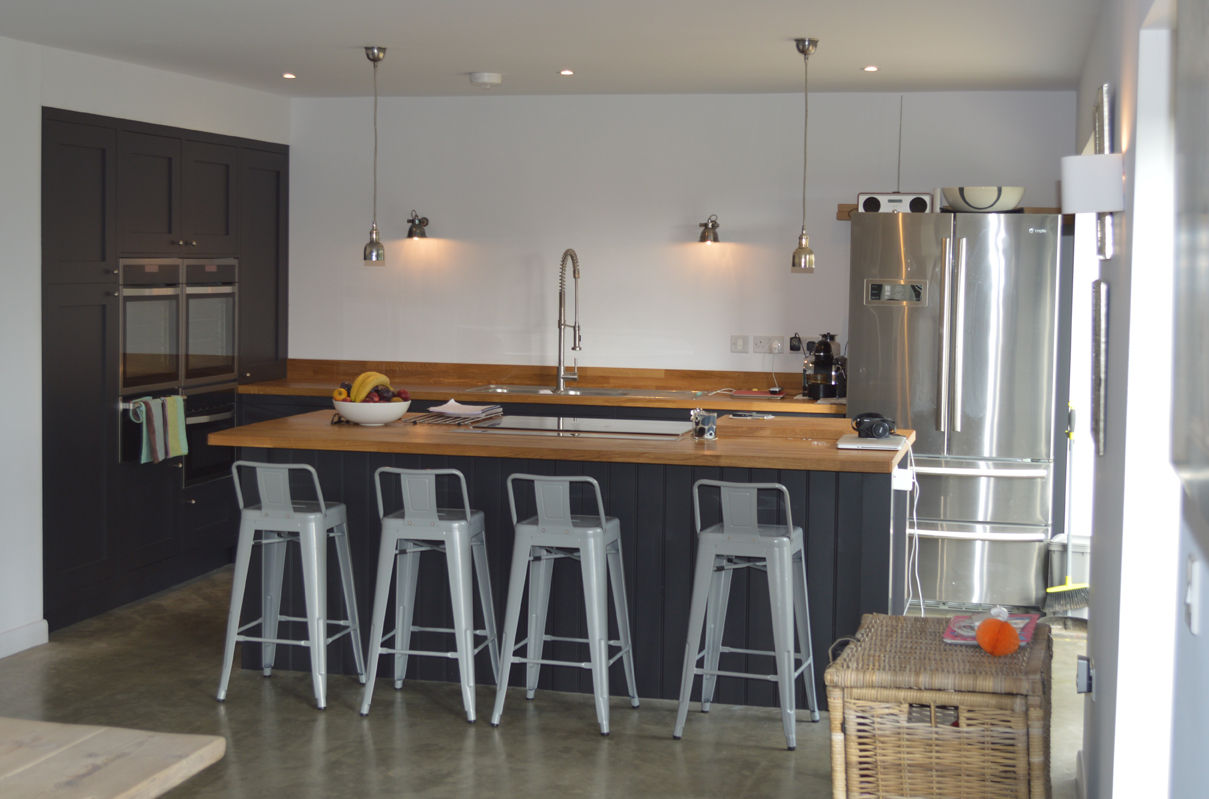
M 118 249 L 231 255 L 238 245 L 236 146 L 175 134 L 118 133 Z

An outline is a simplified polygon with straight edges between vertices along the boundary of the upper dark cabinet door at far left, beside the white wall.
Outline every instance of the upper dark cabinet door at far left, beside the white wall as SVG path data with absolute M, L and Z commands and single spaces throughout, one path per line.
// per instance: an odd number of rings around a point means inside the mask
M 47 283 L 117 285 L 117 132 L 42 118 L 42 259 Z

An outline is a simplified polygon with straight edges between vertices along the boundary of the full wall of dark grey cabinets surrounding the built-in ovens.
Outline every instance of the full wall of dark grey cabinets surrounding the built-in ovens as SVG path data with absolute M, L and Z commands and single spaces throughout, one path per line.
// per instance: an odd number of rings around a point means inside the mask
M 51 629 L 231 562 L 238 514 L 230 477 L 183 486 L 178 462 L 118 457 L 117 261 L 238 257 L 241 273 L 248 270 L 242 311 L 251 314 L 239 357 L 254 375 L 284 375 L 288 172 L 284 145 L 42 110 L 42 564 Z

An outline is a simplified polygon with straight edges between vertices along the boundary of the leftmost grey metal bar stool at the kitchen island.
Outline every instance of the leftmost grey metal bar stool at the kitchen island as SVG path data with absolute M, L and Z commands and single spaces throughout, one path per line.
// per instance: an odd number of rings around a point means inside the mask
M 259 502 L 253 504 L 247 504 L 243 497 L 241 473 L 245 470 L 250 470 L 255 476 Z M 312 490 L 307 493 L 313 498 L 294 497 L 291 474 L 302 475 L 299 482 Z M 357 595 L 353 590 L 353 562 L 348 549 L 348 515 L 345 505 L 324 500 L 323 491 L 319 488 L 319 475 L 306 464 L 236 461 L 231 464 L 231 476 L 235 481 L 236 499 L 239 502 L 239 539 L 236 543 L 235 578 L 231 584 L 231 608 L 227 612 L 218 700 L 220 702 L 226 700 L 236 642 L 260 643 L 261 671 L 265 677 L 273 671 L 277 644 L 288 644 L 307 647 L 311 650 L 311 682 L 314 687 L 316 705 L 323 710 L 328 705 L 328 644 L 332 641 L 348 636 L 358 678 L 365 682 L 365 660 L 357 621 Z M 306 477 L 310 477 L 310 481 Z M 336 545 L 336 560 L 340 563 L 340 585 L 346 613 L 343 619 L 328 619 L 329 537 Z M 280 614 L 282 577 L 285 567 L 285 546 L 289 543 L 297 544 L 301 554 L 305 616 Z M 254 545 L 261 546 L 261 615 L 239 626 Z M 280 621 L 305 621 L 307 637 L 279 638 L 277 627 Z M 245 633 L 256 625 L 260 625 L 261 635 Z M 342 630 L 329 636 L 329 625 L 340 626 Z

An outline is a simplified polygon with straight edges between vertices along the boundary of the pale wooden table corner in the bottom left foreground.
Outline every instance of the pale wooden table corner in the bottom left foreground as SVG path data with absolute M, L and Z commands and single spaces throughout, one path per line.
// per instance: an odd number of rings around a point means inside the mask
M 158 797 L 225 752 L 218 735 L 0 718 L 0 797 Z

